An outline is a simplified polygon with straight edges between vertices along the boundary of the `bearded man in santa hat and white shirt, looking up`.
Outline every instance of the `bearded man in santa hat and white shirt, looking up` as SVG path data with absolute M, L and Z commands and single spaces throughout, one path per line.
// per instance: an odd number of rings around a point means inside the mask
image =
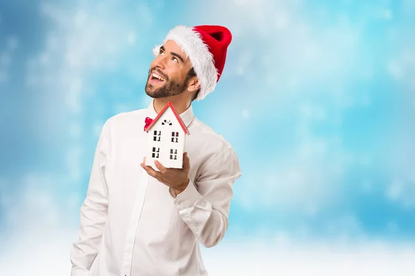
M 194 117 L 191 103 L 214 90 L 230 41 L 221 26 L 177 26 L 154 48 L 145 86 L 151 104 L 102 128 L 72 276 L 208 275 L 199 243 L 212 247 L 225 235 L 241 171 L 232 146 Z M 190 131 L 183 168 L 145 166 L 143 128 L 169 101 Z

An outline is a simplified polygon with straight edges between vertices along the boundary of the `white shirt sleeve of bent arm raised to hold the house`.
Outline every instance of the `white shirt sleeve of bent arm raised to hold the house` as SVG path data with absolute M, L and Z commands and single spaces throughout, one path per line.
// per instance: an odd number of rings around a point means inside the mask
M 203 246 L 215 246 L 228 230 L 232 186 L 239 177 L 239 161 L 230 148 L 210 161 L 201 170 L 196 184 L 190 180 L 174 199 L 181 218 Z

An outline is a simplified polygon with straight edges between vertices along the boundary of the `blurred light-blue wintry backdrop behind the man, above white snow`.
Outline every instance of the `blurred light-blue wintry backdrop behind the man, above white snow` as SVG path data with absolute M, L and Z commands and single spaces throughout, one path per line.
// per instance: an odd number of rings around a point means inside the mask
M 415 1 L 0 0 L 0 268 L 24 237 L 68 265 L 102 125 L 178 24 L 233 34 L 193 104 L 241 164 L 224 243 L 415 248 Z

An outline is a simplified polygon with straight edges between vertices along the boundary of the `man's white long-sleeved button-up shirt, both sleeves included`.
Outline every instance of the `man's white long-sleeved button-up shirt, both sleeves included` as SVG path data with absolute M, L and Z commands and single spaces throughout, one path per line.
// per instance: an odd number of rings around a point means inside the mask
M 174 198 L 140 166 L 145 118 L 156 116 L 151 101 L 105 122 L 71 248 L 71 276 L 208 275 L 199 243 L 215 246 L 228 229 L 232 185 L 241 177 L 237 154 L 190 106 L 180 115 L 190 131 L 190 183 Z

